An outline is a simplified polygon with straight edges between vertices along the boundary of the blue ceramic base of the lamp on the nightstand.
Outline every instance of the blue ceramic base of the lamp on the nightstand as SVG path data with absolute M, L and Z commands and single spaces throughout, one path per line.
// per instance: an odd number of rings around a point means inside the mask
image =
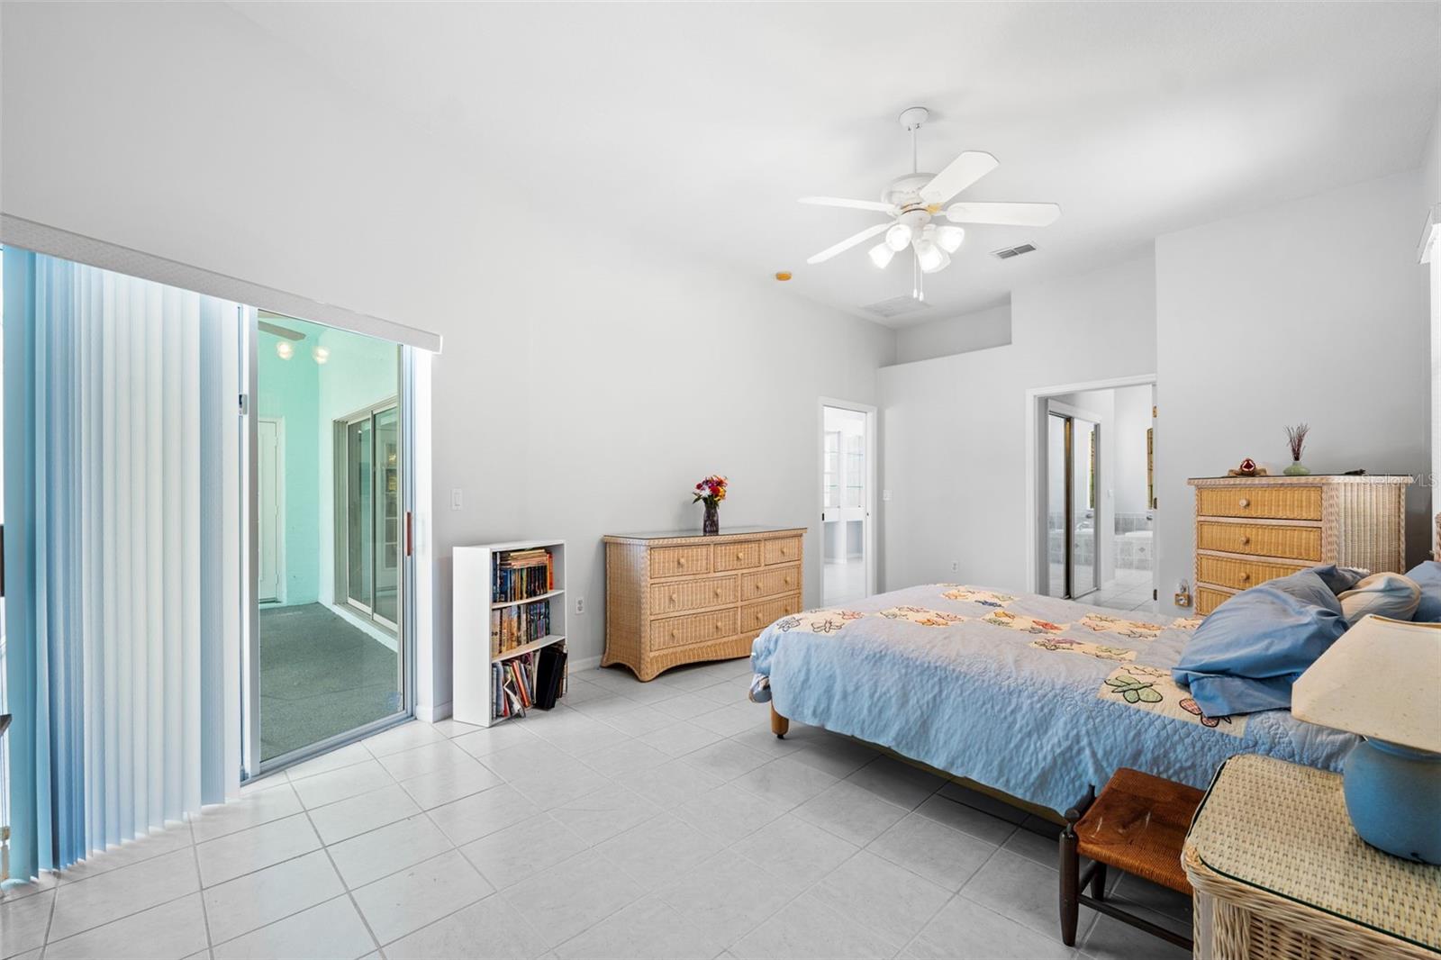
M 1441 863 L 1441 754 L 1363 739 L 1346 754 L 1343 788 L 1360 839 L 1408 861 Z

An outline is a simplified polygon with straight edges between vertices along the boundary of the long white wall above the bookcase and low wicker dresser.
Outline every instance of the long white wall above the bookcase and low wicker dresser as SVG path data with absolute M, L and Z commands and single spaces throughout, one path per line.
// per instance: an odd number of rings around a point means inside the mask
M 816 526 L 816 399 L 875 402 L 893 332 L 679 262 L 624 225 L 566 222 L 552 264 L 537 251 L 555 223 L 483 159 L 383 115 L 223 4 L 6 4 L 3 17 L 6 213 L 444 334 L 441 636 L 424 706 L 450 698 L 457 543 L 568 539 L 584 660 L 604 633 L 599 536 L 699 529 L 697 477 L 732 477 L 722 529 Z M 813 536 L 807 603 L 817 549 Z

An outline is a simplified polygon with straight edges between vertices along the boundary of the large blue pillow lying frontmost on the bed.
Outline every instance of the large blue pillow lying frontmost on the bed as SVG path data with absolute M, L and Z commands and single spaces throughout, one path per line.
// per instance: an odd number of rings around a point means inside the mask
M 1242 591 L 1206 617 L 1172 677 L 1206 716 L 1288 709 L 1291 685 L 1346 633 L 1326 577 L 1303 569 Z

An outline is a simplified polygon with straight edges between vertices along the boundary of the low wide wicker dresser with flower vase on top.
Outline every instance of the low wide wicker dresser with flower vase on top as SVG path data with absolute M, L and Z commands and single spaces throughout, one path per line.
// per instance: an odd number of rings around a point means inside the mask
M 801 610 L 803 528 L 605 538 L 605 656 L 641 680 L 699 660 L 751 654 L 772 621 Z

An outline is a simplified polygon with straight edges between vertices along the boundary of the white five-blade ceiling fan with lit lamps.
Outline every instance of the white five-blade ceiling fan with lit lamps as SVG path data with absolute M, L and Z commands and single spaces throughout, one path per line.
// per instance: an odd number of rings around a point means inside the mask
M 885 239 L 870 248 L 870 262 L 885 268 L 906 246 L 915 251 L 915 297 L 922 298 L 919 274 L 945 270 L 951 254 L 960 249 L 965 231 L 951 223 L 993 223 L 1000 226 L 1048 226 L 1061 216 L 1055 203 L 984 203 L 961 202 L 945 206 L 957 193 L 971 186 L 1000 166 L 996 157 L 981 150 L 967 150 L 951 160 L 940 173 L 921 173 L 916 166 L 916 131 L 929 117 L 925 107 L 911 107 L 901 114 L 901 125 L 911 133 L 911 173 L 896 177 L 880 192 L 880 200 L 846 200 L 830 196 L 803 196 L 801 203 L 844 206 L 856 210 L 885 213 L 886 222 L 867 226 L 833 246 L 808 258 L 807 264 L 821 264 L 843 254 L 872 236 Z M 950 223 L 935 223 L 944 216 Z

